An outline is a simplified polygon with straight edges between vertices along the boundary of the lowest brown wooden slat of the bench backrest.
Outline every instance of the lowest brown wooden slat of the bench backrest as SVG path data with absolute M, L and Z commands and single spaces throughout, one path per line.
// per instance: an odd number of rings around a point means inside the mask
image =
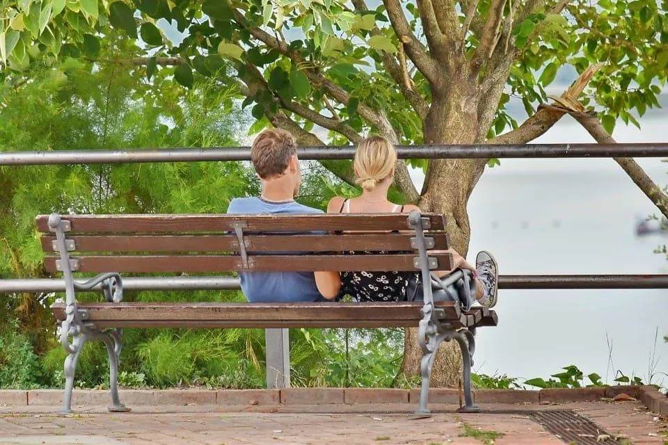
M 433 254 L 438 268 L 452 268 L 452 254 Z M 315 271 L 315 270 L 417 270 L 413 266 L 415 254 L 360 254 L 360 255 L 251 255 L 248 268 L 234 255 L 102 255 L 72 257 L 79 261 L 79 272 L 118 273 L 212 273 L 260 271 Z M 45 258 L 45 268 L 56 273 L 55 256 Z

